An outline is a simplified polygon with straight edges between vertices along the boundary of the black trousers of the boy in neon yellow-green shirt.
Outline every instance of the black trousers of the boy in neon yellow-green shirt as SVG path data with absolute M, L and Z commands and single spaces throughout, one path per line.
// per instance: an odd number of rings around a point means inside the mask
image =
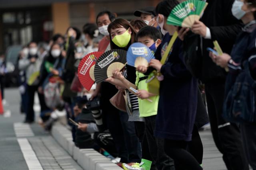
M 174 170 L 174 161 L 164 151 L 164 139 L 154 137 L 156 115 L 145 117 L 145 133 L 148 147 L 158 170 Z

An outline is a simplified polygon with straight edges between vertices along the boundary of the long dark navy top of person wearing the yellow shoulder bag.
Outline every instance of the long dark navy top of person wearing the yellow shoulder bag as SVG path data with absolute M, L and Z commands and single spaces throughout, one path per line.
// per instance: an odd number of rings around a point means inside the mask
M 170 39 L 167 33 L 156 51 L 156 59 L 161 59 L 160 53 L 164 53 Z M 180 39 L 176 39 L 160 72 L 164 80 L 160 82 L 155 136 L 190 141 L 196 117 L 198 84 L 185 66 Z

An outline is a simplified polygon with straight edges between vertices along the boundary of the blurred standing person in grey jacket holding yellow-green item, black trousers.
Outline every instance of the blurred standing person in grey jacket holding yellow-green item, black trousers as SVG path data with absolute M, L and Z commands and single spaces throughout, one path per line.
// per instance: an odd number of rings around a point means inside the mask
M 26 72 L 26 83 L 28 90 L 28 103 L 26 110 L 26 119 L 24 123 L 33 123 L 34 122 L 34 94 L 37 92 L 38 83 L 39 83 L 39 71 L 42 64 L 42 58 L 37 55 L 38 47 L 35 42 L 29 44 L 29 53 L 28 57 L 21 59 L 19 61 L 19 69 L 25 70 Z M 41 111 L 47 109 L 47 106 L 44 102 L 44 95 L 38 93 L 40 100 Z

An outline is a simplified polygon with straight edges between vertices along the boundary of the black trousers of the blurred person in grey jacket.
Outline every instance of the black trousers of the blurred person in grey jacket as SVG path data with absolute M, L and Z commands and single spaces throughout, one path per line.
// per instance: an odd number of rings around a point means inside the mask
M 28 86 L 28 106 L 27 106 L 27 113 L 26 113 L 26 121 L 33 122 L 35 119 L 35 113 L 34 113 L 34 96 L 35 92 L 37 92 L 38 86 Z M 44 101 L 44 95 L 38 93 L 38 98 L 41 106 L 41 111 L 44 111 L 46 109 L 49 109 Z

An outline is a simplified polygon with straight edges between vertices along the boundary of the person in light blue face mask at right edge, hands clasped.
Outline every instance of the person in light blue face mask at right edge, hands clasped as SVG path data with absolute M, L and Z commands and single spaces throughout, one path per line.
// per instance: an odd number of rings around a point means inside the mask
M 232 93 L 230 89 L 236 80 L 240 80 L 241 76 L 248 77 L 247 81 L 256 80 L 256 0 L 235 0 L 232 14 L 238 20 L 242 20 L 245 26 L 238 35 L 231 54 L 224 53 L 221 56 L 210 54 L 212 61 L 217 65 L 229 69 L 226 80 L 226 95 Z M 246 70 L 250 70 L 250 72 Z M 254 84 L 255 87 L 254 81 L 248 81 L 248 83 Z M 244 98 L 248 99 L 248 103 L 251 102 L 246 95 Z M 256 122 L 240 122 L 240 130 L 246 158 L 253 170 L 256 170 Z

